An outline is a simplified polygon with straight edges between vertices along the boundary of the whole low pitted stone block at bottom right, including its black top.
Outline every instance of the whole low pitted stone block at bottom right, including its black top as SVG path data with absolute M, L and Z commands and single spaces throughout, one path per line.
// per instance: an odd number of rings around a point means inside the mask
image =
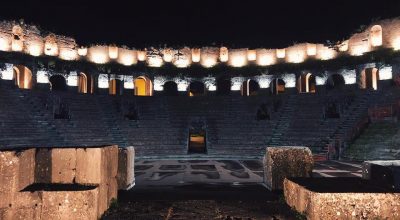
M 284 181 L 286 203 L 307 219 L 400 219 L 400 193 L 359 178 L 308 179 Z

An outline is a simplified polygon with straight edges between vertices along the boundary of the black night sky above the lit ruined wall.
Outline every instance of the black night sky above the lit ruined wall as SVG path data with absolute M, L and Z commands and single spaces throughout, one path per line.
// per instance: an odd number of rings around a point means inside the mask
M 7 0 L 0 19 L 24 19 L 79 44 L 278 48 L 339 40 L 373 19 L 400 16 L 400 0 L 101 2 Z

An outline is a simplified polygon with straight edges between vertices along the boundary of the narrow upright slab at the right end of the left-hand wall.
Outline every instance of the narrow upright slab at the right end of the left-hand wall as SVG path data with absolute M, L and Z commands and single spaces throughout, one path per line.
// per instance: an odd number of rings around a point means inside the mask
M 135 185 L 135 149 L 119 148 L 118 189 L 129 190 Z

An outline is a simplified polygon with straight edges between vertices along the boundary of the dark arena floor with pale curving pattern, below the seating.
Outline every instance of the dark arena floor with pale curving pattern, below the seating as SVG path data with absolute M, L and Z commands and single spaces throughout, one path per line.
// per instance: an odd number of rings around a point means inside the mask
M 260 160 L 140 160 L 135 164 L 136 187 L 263 182 Z M 317 162 L 314 177 L 361 177 L 361 163 Z

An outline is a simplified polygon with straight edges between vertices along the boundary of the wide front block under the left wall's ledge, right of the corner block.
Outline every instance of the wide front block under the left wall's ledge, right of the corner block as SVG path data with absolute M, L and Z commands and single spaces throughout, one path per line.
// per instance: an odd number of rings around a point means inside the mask
M 41 191 L 42 219 L 98 218 L 99 188 L 78 191 Z

